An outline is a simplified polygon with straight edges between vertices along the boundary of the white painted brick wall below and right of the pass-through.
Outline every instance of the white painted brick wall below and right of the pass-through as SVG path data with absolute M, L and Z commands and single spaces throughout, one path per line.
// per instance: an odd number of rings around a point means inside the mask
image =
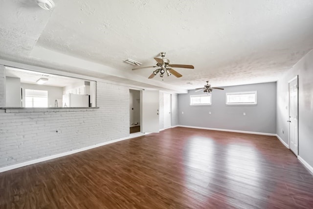
M 128 87 L 97 82 L 97 107 L 0 110 L 0 167 L 129 136 Z

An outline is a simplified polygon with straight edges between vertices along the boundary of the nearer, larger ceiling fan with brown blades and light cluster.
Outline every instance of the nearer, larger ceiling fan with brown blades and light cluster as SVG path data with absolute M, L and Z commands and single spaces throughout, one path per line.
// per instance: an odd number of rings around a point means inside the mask
M 138 70 L 138 69 L 142 69 L 142 68 L 156 68 L 156 67 L 158 67 L 158 69 L 153 71 L 153 73 L 148 78 L 153 78 L 157 73 L 160 73 L 160 77 L 163 77 L 163 74 L 165 72 L 166 72 L 167 76 L 170 76 L 171 74 L 173 74 L 179 78 L 182 75 L 172 68 L 188 68 L 188 69 L 194 69 L 195 68 L 192 65 L 170 64 L 170 60 L 164 58 L 165 52 L 161 52 L 160 55 L 162 58 L 157 58 L 157 57 L 154 58 L 157 62 L 155 66 L 146 66 L 146 67 L 141 67 L 141 68 L 134 68 L 133 70 Z

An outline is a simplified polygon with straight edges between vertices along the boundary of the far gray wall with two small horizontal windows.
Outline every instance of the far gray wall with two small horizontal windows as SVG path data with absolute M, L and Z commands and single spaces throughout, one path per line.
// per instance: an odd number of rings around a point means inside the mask
M 276 82 L 224 89 L 212 92 L 211 106 L 189 105 L 189 96 L 204 94 L 202 91 L 179 94 L 179 125 L 276 134 Z M 247 91 L 257 91 L 257 105 L 225 105 L 225 93 Z

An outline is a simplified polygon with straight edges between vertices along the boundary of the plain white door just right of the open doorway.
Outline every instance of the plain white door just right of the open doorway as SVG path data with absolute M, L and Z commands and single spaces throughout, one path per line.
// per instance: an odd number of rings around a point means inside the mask
M 142 132 L 159 132 L 159 92 L 142 91 Z

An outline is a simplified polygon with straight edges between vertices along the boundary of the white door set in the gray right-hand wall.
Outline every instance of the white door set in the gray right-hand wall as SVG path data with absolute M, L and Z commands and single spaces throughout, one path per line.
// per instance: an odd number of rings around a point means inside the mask
M 289 141 L 290 149 L 298 155 L 298 77 L 289 82 Z

